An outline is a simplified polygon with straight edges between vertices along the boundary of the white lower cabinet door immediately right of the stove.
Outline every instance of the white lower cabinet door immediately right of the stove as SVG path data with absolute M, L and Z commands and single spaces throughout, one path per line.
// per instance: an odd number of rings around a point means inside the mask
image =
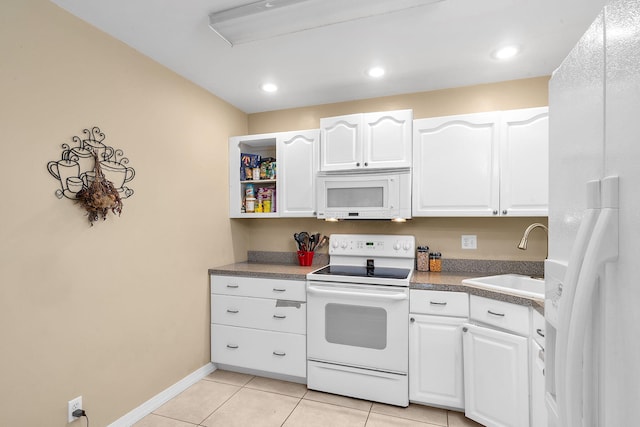
M 464 408 L 462 324 L 465 318 L 410 315 L 409 400 Z

